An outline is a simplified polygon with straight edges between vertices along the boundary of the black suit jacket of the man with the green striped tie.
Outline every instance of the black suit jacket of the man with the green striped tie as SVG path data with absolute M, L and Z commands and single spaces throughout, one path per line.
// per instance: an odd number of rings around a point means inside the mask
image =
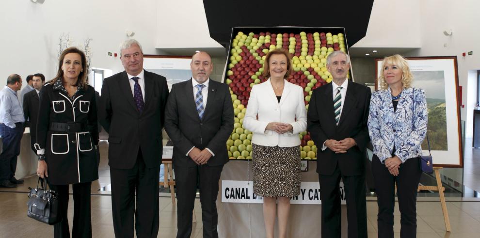
M 307 113 L 307 130 L 319 147 L 317 152 L 317 172 L 332 175 L 338 166 L 342 175 L 361 175 L 365 171 L 364 152 L 368 136 L 367 120 L 370 104 L 370 89 L 352 81 L 348 82 L 342 114 L 338 126 L 335 122 L 333 86 L 331 83 L 313 91 Z M 357 145 L 344 154 L 335 154 L 329 148 L 321 150 L 321 145 L 329 139 L 353 138 Z

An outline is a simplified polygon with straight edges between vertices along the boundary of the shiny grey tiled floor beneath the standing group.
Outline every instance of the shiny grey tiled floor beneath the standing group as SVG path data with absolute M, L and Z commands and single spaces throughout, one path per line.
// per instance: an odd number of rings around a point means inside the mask
M 99 179 L 92 184 L 92 228 L 93 236 L 97 238 L 110 238 L 113 236 L 112 204 L 109 191 L 98 189 L 110 183 L 110 173 L 107 164 L 106 143 L 101 145 L 102 160 L 99 167 Z M 478 152 L 477 152 L 478 153 Z M 466 162 L 465 162 L 466 163 Z M 480 168 L 479 168 L 480 169 Z M 472 170 L 475 173 L 477 170 Z M 24 185 L 16 189 L 0 189 L 0 238 L 52 237 L 53 228 L 40 222 L 33 221 L 26 216 L 27 188 L 35 187 L 36 178 L 26 179 Z M 480 179 L 479 179 L 480 181 Z M 478 182 L 477 182 L 478 183 Z M 438 202 L 417 202 L 417 237 L 418 238 L 479 238 L 480 237 L 480 199 L 448 198 L 448 213 L 452 231 L 445 231 L 442 210 Z M 70 201 L 73 201 L 70 198 Z M 313 206 L 313 205 L 309 205 Z M 292 206 L 294 209 L 294 206 Z M 343 210 L 346 210 L 343 208 Z M 376 201 L 368 200 L 368 237 L 377 237 L 376 215 L 378 207 Z M 195 200 L 195 213 L 197 222 L 193 224 L 192 238 L 201 238 L 202 218 L 200 201 Z M 73 219 L 73 202 L 69 204 L 69 221 Z M 71 222 L 70 222 L 71 225 Z M 263 225 L 263 224 L 258 224 Z M 320 229 L 319 227 L 312 229 Z M 346 226 L 343 226 L 346 227 Z M 71 229 L 71 228 L 70 228 Z M 303 228 L 305 229 L 305 228 Z M 395 210 L 395 237 L 400 237 L 400 212 L 398 204 Z M 240 231 L 231 231 L 232 237 Z M 33 235 L 34 234 L 34 235 Z M 234 235 L 235 234 L 235 235 Z M 172 206 L 170 197 L 160 197 L 160 230 L 161 238 L 174 238 L 176 236 L 176 206 Z

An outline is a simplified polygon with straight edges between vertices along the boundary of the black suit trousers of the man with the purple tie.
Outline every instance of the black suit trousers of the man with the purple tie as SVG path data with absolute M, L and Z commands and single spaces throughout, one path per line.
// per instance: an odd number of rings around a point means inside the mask
M 132 238 L 135 226 L 138 238 L 156 238 L 160 225 L 160 166 L 146 168 L 139 149 L 133 168 L 110 167 L 110 178 L 115 237 Z

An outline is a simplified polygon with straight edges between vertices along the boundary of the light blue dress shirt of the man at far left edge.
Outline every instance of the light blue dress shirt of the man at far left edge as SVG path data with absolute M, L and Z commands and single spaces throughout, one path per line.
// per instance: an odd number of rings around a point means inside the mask
M 0 123 L 15 128 L 18 122 L 25 122 L 22 106 L 16 92 L 5 86 L 0 91 Z

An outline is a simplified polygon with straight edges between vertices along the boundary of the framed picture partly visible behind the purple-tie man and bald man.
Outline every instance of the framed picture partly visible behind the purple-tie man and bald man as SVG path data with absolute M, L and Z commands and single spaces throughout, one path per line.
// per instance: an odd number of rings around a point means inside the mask
M 172 84 L 192 78 L 192 56 L 144 55 L 144 69 L 167 78 L 168 90 Z

